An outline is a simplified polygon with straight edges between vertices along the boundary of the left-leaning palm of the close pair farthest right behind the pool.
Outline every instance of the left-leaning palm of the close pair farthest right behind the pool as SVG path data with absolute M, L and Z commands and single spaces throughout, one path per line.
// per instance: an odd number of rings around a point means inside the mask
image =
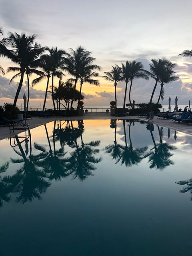
M 171 72 L 172 69 L 176 66 L 175 63 L 172 63 L 171 61 L 168 61 L 165 58 L 162 59 L 152 59 L 152 63 L 150 63 L 150 71 L 148 72 L 148 75 L 150 75 L 152 78 L 155 79 L 155 85 L 152 91 L 152 95 L 150 98 L 150 106 L 152 108 L 152 100 L 154 96 L 154 92 L 156 90 L 158 82 L 160 82 L 160 78 L 164 75 L 166 72 Z

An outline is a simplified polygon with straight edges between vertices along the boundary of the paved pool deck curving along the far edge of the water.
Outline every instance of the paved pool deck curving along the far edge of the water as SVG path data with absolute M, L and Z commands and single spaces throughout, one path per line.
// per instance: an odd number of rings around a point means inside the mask
M 129 117 L 128 117 L 129 118 Z M 84 116 L 70 116 L 70 117 L 51 117 L 51 118 L 38 118 L 38 117 L 32 117 L 32 119 L 27 119 L 26 124 L 29 124 L 29 128 L 35 128 L 37 126 L 40 126 L 42 124 L 46 124 L 48 122 L 52 122 L 54 120 L 94 120 L 94 119 L 117 119 L 117 120 L 122 120 L 122 119 L 127 119 L 126 116 L 111 116 L 110 113 L 86 113 Z M 138 120 L 146 120 L 146 118 L 142 117 L 137 117 L 137 116 L 130 116 L 130 119 L 138 119 Z M 170 128 L 172 130 L 176 130 L 178 132 L 184 132 L 186 134 L 192 135 L 192 125 L 188 124 L 182 124 L 178 122 L 172 122 L 169 119 L 157 119 L 156 116 L 154 116 L 153 122 L 148 122 L 148 123 L 153 123 L 153 124 L 158 124 L 160 126 L 164 126 L 167 128 Z M 9 132 L 9 127 L 7 126 L 1 126 L 0 127 L 0 140 L 4 138 L 8 138 L 10 136 L 13 136 L 14 134 L 18 134 L 20 132 L 23 132 L 22 130 L 16 130 L 15 133 Z

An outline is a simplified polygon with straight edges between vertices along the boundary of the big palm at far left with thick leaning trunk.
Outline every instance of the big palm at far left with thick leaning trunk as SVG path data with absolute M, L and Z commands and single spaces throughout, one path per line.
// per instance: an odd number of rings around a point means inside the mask
M 0 47 L 1 55 L 4 57 L 7 57 L 10 59 L 13 63 L 16 63 L 19 65 L 19 68 L 8 68 L 8 71 L 19 71 L 16 75 L 14 75 L 14 78 L 20 76 L 20 82 L 16 91 L 16 95 L 14 98 L 13 105 L 16 106 L 18 96 L 22 87 L 23 79 L 24 79 L 24 73 L 26 72 L 27 68 L 30 65 L 29 57 L 33 55 L 34 47 L 37 44 L 34 43 L 34 40 L 36 39 L 36 35 L 30 35 L 26 36 L 25 34 L 18 35 L 17 33 L 13 34 L 10 33 L 9 37 L 6 38 L 2 43 Z M 6 47 L 12 47 L 13 49 L 8 49 Z M 38 45 L 40 46 L 40 45 Z M 40 48 L 40 49 L 39 49 Z M 38 51 L 35 53 L 34 57 L 38 57 L 44 49 L 41 47 L 37 47 Z

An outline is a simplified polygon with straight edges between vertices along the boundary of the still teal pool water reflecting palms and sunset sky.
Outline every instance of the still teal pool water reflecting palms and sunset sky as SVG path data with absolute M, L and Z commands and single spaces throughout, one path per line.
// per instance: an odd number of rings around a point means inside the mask
M 0 148 L 0 256 L 192 254 L 192 136 L 60 121 Z

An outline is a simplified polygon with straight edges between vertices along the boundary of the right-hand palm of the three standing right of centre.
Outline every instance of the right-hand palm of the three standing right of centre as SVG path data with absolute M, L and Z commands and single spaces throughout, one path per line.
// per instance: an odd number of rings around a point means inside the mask
M 148 71 L 143 69 L 143 65 L 141 62 L 137 62 L 137 61 L 132 61 L 130 62 L 130 87 L 129 87 L 129 103 L 132 106 L 132 102 L 131 102 L 131 87 L 132 87 L 132 83 L 133 83 L 133 79 L 134 78 L 143 78 L 148 80 L 149 77 L 147 75 Z

